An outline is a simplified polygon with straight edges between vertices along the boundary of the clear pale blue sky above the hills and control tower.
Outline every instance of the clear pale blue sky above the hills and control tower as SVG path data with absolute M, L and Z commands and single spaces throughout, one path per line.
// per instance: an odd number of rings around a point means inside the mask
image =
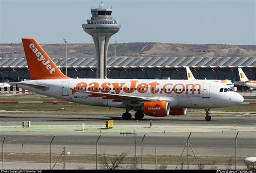
M 0 43 L 92 43 L 82 24 L 99 0 L 0 0 Z M 111 43 L 255 45 L 255 0 L 105 0 L 122 25 Z

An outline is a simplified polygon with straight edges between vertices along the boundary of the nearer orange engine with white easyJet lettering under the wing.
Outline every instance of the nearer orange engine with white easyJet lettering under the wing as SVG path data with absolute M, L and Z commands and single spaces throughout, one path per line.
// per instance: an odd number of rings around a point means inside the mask
M 152 117 L 166 117 L 170 112 L 170 103 L 165 101 L 144 102 L 143 106 L 136 107 L 134 111 L 142 111 Z

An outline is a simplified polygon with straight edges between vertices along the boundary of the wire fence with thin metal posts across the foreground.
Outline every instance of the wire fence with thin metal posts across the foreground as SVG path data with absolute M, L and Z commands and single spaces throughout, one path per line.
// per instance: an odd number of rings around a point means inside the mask
M 201 134 L 99 133 L 82 143 L 81 136 L 1 135 L 2 169 L 247 169 L 244 158 L 255 155 L 248 149 L 255 139 L 241 138 L 246 132 Z

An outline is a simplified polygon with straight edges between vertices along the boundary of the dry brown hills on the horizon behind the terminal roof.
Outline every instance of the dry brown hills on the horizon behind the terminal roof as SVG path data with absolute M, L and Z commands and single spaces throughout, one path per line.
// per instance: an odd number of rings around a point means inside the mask
M 50 57 L 66 57 L 65 44 L 41 44 Z M 165 44 L 159 42 L 129 42 L 117 44 L 117 57 L 187 57 L 198 56 L 256 56 L 256 45 L 226 44 Z M 0 57 L 25 57 L 22 44 L 0 44 Z M 68 57 L 95 57 L 94 44 L 68 44 Z M 114 57 L 110 44 L 107 57 Z

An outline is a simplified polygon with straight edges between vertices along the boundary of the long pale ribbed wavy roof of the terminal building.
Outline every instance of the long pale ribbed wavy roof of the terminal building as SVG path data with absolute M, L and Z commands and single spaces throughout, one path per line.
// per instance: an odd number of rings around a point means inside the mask
M 57 66 L 64 67 L 65 58 L 52 58 Z M 0 58 L 0 68 L 27 68 L 25 58 Z M 256 67 L 256 57 L 119 57 L 108 58 L 108 68 L 218 68 L 218 67 Z M 68 67 L 96 68 L 92 57 L 69 58 Z

